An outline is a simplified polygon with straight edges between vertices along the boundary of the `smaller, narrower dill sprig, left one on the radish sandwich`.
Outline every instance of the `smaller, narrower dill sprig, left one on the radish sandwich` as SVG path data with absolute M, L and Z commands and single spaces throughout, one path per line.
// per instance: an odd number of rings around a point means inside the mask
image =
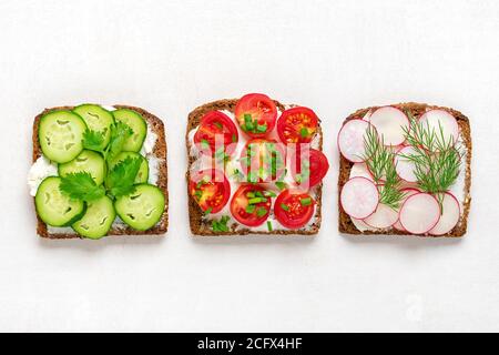
M 400 191 L 400 178 L 395 170 L 395 153 L 385 146 L 383 135 L 379 138 L 373 125 L 364 136 L 365 155 L 363 160 L 373 174 L 373 180 L 378 186 L 379 202 L 393 210 L 400 207 L 405 193 Z

